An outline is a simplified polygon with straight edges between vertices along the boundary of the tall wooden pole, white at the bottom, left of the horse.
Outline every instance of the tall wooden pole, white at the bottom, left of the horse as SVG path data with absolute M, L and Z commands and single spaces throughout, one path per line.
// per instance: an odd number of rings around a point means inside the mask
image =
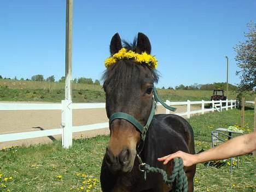
M 72 146 L 72 13 L 73 0 L 66 1 L 65 101 L 62 101 L 62 147 Z

